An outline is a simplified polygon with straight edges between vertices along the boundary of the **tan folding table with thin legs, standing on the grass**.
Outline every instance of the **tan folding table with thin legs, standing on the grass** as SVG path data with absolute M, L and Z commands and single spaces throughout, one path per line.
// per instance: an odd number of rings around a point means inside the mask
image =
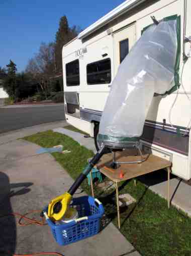
M 118 162 L 131 162 L 131 161 L 137 161 L 140 160 L 139 156 L 128 156 L 128 152 L 117 152 L 116 153 L 116 161 Z M 104 155 L 100 162 L 97 164 L 97 168 L 100 170 L 101 173 L 106 175 L 109 179 L 111 179 L 113 182 L 115 182 L 116 185 L 116 200 L 117 200 L 117 213 L 118 213 L 118 226 L 119 229 L 121 228 L 121 222 L 120 222 L 120 207 L 119 207 L 119 190 L 118 190 L 118 183 L 120 181 L 129 180 L 132 178 L 136 178 L 138 176 L 151 173 L 160 169 L 165 169 L 168 172 L 168 182 L 167 182 L 167 194 L 168 194 L 168 208 L 170 207 L 170 198 L 169 198 L 169 180 L 170 180 L 170 166 L 171 162 L 156 157 L 154 155 L 145 155 L 147 157 L 145 162 L 142 162 L 141 164 L 121 164 L 121 166 L 118 169 L 112 169 L 110 167 L 110 164 L 112 162 L 112 154 L 109 153 L 107 155 Z M 91 178 L 91 191 L 92 196 L 93 194 L 93 182 L 92 177 L 90 173 Z

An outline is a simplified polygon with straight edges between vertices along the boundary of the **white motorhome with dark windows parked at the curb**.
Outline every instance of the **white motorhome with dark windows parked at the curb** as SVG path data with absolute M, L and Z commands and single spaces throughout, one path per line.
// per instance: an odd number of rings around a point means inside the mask
M 64 45 L 62 52 L 66 120 L 91 137 L 96 137 L 111 82 L 121 61 L 141 36 L 141 31 L 152 23 L 150 17 L 155 16 L 160 20 L 180 15 L 180 73 L 183 67 L 182 84 L 186 94 L 181 85 L 176 100 L 176 91 L 153 98 L 141 142 L 144 150 L 172 161 L 173 174 L 186 180 L 191 178 L 190 130 L 187 136 L 182 134 L 191 117 L 190 101 L 187 98 L 191 98 L 191 60 L 188 59 L 182 65 L 182 54 L 184 29 L 186 36 L 191 35 L 190 2 L 126 1 Z M 189 49 L 190 43 L 185 43 L 186 54 Z M 169 112 L 174 100 L 172 127 Z

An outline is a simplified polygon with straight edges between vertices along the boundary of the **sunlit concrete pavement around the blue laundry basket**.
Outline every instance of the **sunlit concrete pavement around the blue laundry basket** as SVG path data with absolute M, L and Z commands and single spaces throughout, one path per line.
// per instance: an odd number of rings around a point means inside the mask
M 1 215 L 41 210 L 73 182 L 51 155 L 37 155 L 38 145 L 16 137 L 12 134 L 11 141 L 4 138 L 0 145 Z M 42 251 L 58 251 L 68 256 L 140 255 L 112 223 L 100 234 L 67 246 L 54 241 L 48 226 L 18 226 L 14 216 L 0 218 L 0 229 L 0 255 L 4 256 L 6 251 L 10 251 L 7 255 Z

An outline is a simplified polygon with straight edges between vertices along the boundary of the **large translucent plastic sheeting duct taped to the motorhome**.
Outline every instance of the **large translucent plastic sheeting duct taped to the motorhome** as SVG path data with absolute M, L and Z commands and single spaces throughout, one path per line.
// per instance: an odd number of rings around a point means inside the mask
M 177 23 L 164 19 L 148 27 L 119 66 L 101 118 L 100 141 L 140 137 L 154 93 L 175 85 Z

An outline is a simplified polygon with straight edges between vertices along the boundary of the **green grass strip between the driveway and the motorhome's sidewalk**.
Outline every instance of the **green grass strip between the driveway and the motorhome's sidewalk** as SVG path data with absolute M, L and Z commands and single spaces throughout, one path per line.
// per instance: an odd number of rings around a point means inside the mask
M 60 165 L 75 179 L 86 165 L 93 152 L 80 146 L 72 138 L 46 131 L 24 138 L 43 147 L 62 144 L 71 153 L 52 153 Z M 81 187 L 90 194 L 87 179 Z M 64 191 L 63 191 L 64 192 Z M 112 198 L 115 191 L 101 193 L 95 189 L 96 196 L 103 202 L 107 218 L 118 227 L 117 208 Z M 133 246 L 146 256 L 191 255 L 191 219 L 174 207 L 167 208 L 167 201 L 154 194 L 143 183 L 137 181 L 121 182 L 120 193 L 130 193 L 137 202 L 121 209 L 121 232 Z M 115 246 L 115 245 L 114 245 Z

